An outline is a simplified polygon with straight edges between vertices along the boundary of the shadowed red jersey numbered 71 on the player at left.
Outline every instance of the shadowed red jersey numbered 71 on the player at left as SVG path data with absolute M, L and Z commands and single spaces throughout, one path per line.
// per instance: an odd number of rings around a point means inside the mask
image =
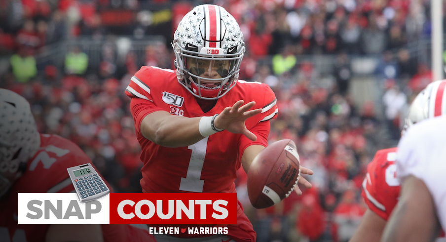
M 57 135 L 40 134 L 40 148 L 28 161 L 26 172 L 14 183 L 6 200 L 0 202 L 0 238 L 11 242 L 45 241 L 50 225 L 18 224 L 18 194 L 74 192 L 67 168 L 89 162 L 88 156 L 73 142 Z M 107 186 L 111 188 L 108 183 Z M 153 238 L 149 232 L 130 225 L 102 225 L 102 231 L 106 242 L 135 241 L 127 236 L 149 238 L 146 241 Z

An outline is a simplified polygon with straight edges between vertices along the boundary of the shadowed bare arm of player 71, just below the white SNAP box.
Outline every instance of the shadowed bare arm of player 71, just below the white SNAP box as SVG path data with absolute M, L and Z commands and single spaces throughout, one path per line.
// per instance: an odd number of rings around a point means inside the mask
M 46 242 L 103 242 L 100 224 L 53 224 L 46 232 Z

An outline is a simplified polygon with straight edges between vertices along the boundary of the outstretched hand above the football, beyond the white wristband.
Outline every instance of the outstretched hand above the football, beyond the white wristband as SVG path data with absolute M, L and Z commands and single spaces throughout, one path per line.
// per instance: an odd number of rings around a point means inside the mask
M 257 140 L 257 136 L 249 131 L 245 126 L 245 121 L 261 113 L 261 108 L 249 110 L 256 102 L 249 102 L 242 106 L 245 101 L 239 100 L 232 107 L 224 108 L 223 112 L 215 118 L 216 128 L 225 129 L 231 133 L 243 134 L 252 141 Z

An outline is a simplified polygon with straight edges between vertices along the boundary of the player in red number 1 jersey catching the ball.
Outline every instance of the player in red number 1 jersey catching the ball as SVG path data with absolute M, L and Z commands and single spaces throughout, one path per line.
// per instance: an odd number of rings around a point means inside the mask
M 276 97 L 267 84 L 238 80 L 243 34 L 221 6 L 188 12 L 172 47 L 176 70 L 143 66 L 125 91 L 142 148 L 143 192 L 235 193 L 237 169 L 248 171 L 268 145 Z M 299 183 L 311 187 L 302 177 Z M 215 241 L 256 241 L 238 204 L 237 225 L 227 226 L 230 238 Z

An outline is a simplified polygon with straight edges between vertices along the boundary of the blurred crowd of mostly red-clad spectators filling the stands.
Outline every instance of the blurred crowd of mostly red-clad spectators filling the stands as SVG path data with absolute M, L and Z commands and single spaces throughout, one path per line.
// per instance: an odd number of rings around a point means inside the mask
M 7 60 L 0 87 L 32 103 L 40 132 L 79 145 L 115 192 L 141 192 L 141 148 L 124 90 L 141 65 L 173 68 L 168 43 L 148 45 L 143 56 L 130 50 L 119 63 L 120 50 L 104 45 L 94 67 L 81 45 L 66 50 L 63 64 L 39 66 L 35 57 L 60 41 L 113 35 L 104 9 L 134 11 L 135 21 L 123 24 L 134 38 L 170 41 L 178 20 L 201 3 L 222 5 L 237 19 L 247 45 L 240 79 L 268 83 L 277 96 L 270 142 L 294 140 L 301 164 L 314 171 L 313 188 L 302 196 L 257 210 L 240 170 L 238 197 L 258 241 L 347 241 L 366 209 L 360 194 L 367 164 L 396 144 L 410 100 L 432 81 L 428 63 L 406 48 L 430 38 L 428 0 L 0 0 L 0 59 Z M 171 7 L 169 28 L 150 28 L 150 9 L 141 6 Z M 334 55 L 334 71 L 298 59 L 315 54 Z M 379 59 L 373 77 L 383 110 L 354 103 L 352 55 Z

